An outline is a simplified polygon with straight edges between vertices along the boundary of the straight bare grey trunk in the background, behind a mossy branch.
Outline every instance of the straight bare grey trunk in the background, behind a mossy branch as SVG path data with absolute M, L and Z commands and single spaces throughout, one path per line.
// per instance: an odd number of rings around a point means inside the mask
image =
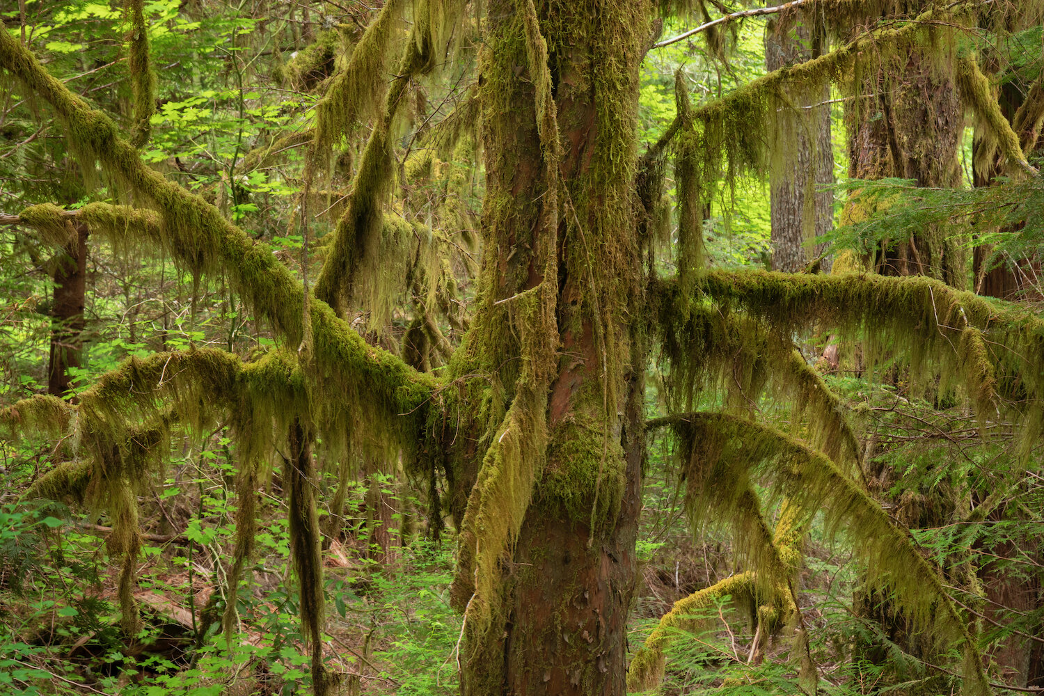
M 816 57 L 821 47 L 814 33 L 785 15 L 769 23 L 765 67 L 772 72 Z M 776 115 L 776 143 L 783 161 L 772 172 L 773 270 L 800 272 L 823 251 L 823 245 L 812 247 L 809 242 L 833 229 L 834 194 L 828 187 L 834 183 L 834 158 L 826 103 L 830 86 L 791 98 L 799 111 Z M 829 262 L 821 268 L 829 271 Z

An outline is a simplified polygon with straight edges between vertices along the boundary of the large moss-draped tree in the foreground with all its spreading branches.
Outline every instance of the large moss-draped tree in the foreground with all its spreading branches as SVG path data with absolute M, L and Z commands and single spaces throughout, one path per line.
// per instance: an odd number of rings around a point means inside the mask
M 234 598 L 252 553 L 248 501 L 267 472 L 262 463 L 279 454 L 316 694 L 336 693 L 340 675 L 323 659 L 314 453 L 339 460 L 363 450 L 385 461 L 401 455 L 414 478 L 440 481 L 429 502 L 432 518 L 445 510 L 456 532 L 452 601 L 462 616 L 464 694 L 652 688 L 663 675 L 668 629 L 684 624 L 687 607 L 725 595 L 744 595 L 757 607 L 756 643 L 794 629 L 793 652 L 804 654 L 813 692 L 793 577 L 801 537 L 821 513 L 851 544 L 868 582 L 891 593 L 940 654 L 959 652 L 948 669 L 960 674 L 963 693 L 991 692 L 975 619 L 949 590 L 954 569 L 926 558 L 869 494 L 858 436 L 838 398 L 796 351 L 796 337 L 834 331 L 859 341 L 871 366 L 899 356 L 924 376 L 924 388 L 964 400 L 983 427 L 1017 422 L 1028 457 L 1044 428 L 1044 320 L 953 287 L 958 268 L 939 278 L 708 268 L 701 211 L 717 187 L 773 168 L 778 152 L 756 124 L 770 129 L 780 114 L 800 122 L 801 105 L 817 102 L 796 95 L 820 99 L 831 83 L 859 100 L 873 85 L 865 76 L 886 73 L 914 48 L 923 49 L 918 67 L 930 63 L 930 70 L 915 81 L 902 77 L 903 89 L 942 93 L 956 85 L 963 100 L 946 95 L 946 138 L 931 143 L 941 154 L 898 145 L 942 168 L 942 178 L 924 183 L 952 183 L 951 120 L 959 120 L 962 104 L 992 129 L 1005 170 L 1037 176 L 996 100 L 983 96 L 984 77 L 963 38 L 983 15 L 1021 17 L 1038 11 L 1037 3 L 788 3 L 808 13 L 805 21 L 824 15 L 865 26 L 836 37 L 822 55 L 702 103 L 691 103 L 679 75 L 677 117 L 652 146 L 639 148 L 641 63 L 662 20 L 691 17 L 692 4 L 701 3 L 386 0 L 357 39 L 319 39 L 326 43 L 310 53 L 312 65 L 299 53 L 291 79 L 307 81 L 329 69 L 330 51 L 342 51 L 331 76 L 316 80 L 314 121 L 306 134 L 266 143 L 239 164 L 259 166 L 290 140 L 307 149 L 291 223 L 304 240 L 303 281 L 223 214 L 219 200 L 142 160 L 156 75 L 142 59 L 149 49 L 140 33 L 132 42 L 136 107 L 118 123 L 49 74 L 17 33 L 0 32 L 0 69 L 13 89 L 46 105 L 87 179 L 100 174 L 112 192 L 75 213 L 35 206 L 18 221 L 53 241 L 74 217 L 117 248 L 162 250 L 194 277 L 220 274 L 278 337 L 250 359 L 213 347 L 133 358 L 80 391 L 75 405 L 34 397 L 0 412 L 15 432 L 75 435 L 68 460 L 31 493 L 86 496 L 109 510 L 106 544 L 121 561 L 127 630 L 140 622 L 132 592 L 138 494 L 172 430 L 210 432 L 220 424 L 236 446 L 241 500 L 229 592 Z M 128 7 L 137 24 L 141 3 Z M 424 85 L 472 67 L 455 111 L 431 123 L 420 118 Z M 422 123 L 407 140 L 400 136 L 410 119 Z M 121 128 L 130 120 L 133 140 Z M 343 184 L 336 174 L 346 160 L 347 200 L 316 243 L 316 205 L 325 201 L 325 213 L 334 208 L 323 187 Z M 677 274 L 664 277 L 656 233 L 668 205 L 668 161 L 679 239 L 667 251 Z M 484 173 L 479 220 L 462 203 L 472 170 Z M 436 182 L 442 195 L 418 206 L 410 196 L 420 195 L 411 191 L 420 182 Z M 413 214 L 413 206 L 428 214 Z M 456 310 L 453 268 L 443 258 L 447 231 L 478 237 L 477 290 L 467 315 Z M 313 277 L 309 254 L 323 255 Z M 408 362 L 373 335 L 401 298 L 412 316 Z M 459 330 L 457 345 L 446 327 Z M 668 414 L 647 421 L 655 355 L 668 374 Z M 787 432 L 759 422 L 751 407 L 765 393 L 792 405 Z M 659 428 L 669 428 L 677 443 L 693 523 L 734 527 L 745 571 L 683 600 L 630 659 L 645 441 Z M 784 501 L 775 525 L 755 482 Z M 235 601 L 228 607 L 227 627 Z

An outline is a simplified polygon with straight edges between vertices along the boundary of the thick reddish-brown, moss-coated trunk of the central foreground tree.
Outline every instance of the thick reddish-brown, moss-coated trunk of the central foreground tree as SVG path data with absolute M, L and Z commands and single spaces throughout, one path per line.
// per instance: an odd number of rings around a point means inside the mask
M 526 366 L 520 363 L 528 359 L 526 336 L 539 329 L 539 312 L 524 297 L 543 283 L 553 283 L 560 340 L 538 387 L 542 394 L 532 400 L 546 437 L 518 536 L 497 565 L 498 596 L 485 598 L 489 621 L 476 621 L 479 591 L 467 565 L 454 583 L 454 601 L 467 609 L 461 691 L 623 694 L 645 364 L 634 114 L 652 13 L 641 1 L 535 3 L 561 134 L 560 166 L 545 173 L 540 80 L 521 68 L 535 67 L 527 58 L 525 6 L 491 2 L 481 56 L 482 297 L 454 369 L 487 371 L 497 388 L 482 399 L 488 419 L 469 416 L 462 427 L 472 434 L 455 437 L 449 467 L 455 488 L 468 490 L 478 478 L 477 490 L 497 463 L 482 451 L 499 440 L 483 440 L 482 433 L 515 408 L 513 400 L 523 399 Z M 544 277 L 539 258 L 549 239 L 556 241 L 556 278 Z M 509 434 L 509 427 L 498 433 Z M 473 491 L 469 507 L 476 500 Z M 467 519 L 465 528 L 462 552 L 470 533 L 484 532 L 469 531 Z M 483 628 L 473 628 L 479 623 Z

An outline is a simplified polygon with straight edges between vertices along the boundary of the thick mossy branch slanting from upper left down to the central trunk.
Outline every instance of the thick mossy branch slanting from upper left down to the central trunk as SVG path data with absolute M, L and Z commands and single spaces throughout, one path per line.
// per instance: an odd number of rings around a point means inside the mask
M 100 161 L 109 175 L 148 202 L 160 219 L 159 241 L 180 263 L 197 272 L 227 272 L 286 343 L 301 342 L 304 291 L 267 245 L 256 243 L 216 208 L 148 168 L 104 114 L 69 92 L 6 32 L 0 32 L 0 66 L 22 89 L 51 104 L 85 167 Z M 95 223 L 114 233 L 127 229 L 125 213 L 118 207 L 92 210 Z M 326 370 L 327 388 L 347 397 L 349 405 L 364 403 L 369 413 L 379 411 L 385 421 L 414 412 L 427 402 L 434 386 L 430 377 L 367 345 L 326 304 L 309 303 L 309 311 L 315 357 Z

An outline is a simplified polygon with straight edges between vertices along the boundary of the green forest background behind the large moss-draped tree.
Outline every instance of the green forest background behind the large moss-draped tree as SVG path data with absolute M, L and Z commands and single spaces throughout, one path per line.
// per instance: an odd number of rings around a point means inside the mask
M 294 278 L 322 291 L 323 264 L 336 254 L 334 230 L 360 186 L 367 140 L 388 125 L 379 111 L 361 114 L 360 125 L 333 148 L 326 174 L 313 175 L 316 112 L 381 4 L 23 1 L 0 8 L 0 19 L 51 75 L 109 113 L 149 167 L 199 194 L 267 243 Z M 889 3 L 878 4 L 873 18 L 853 10 L 852 35 L 917 16 L 905 6 L 892 15 Z M 694 3 L 658 20 L 641 67 L 639 152 L 662 146 L 664 134 L 684 121 L 690 98 L 698 109 L 783 65 L 828 52 L 831 40 L 836 47 L 851 38 L 806 16 L 751 13 L 668 41 L 744 9 L 742 3 Z M 822 11 L 843 9 L 825 3 Z M 447 374 L 476 313 L 485 194 L 475 115 L 481 23 L 479 13 L 458 27 L 449 42 L 453 61 L 436 77 L 418 78 L 399 106 L 389 138 L 395 221 L 378 236 L 380 263 L 359 281 L 357 307 L 342 312 L 369 344 L 436 377 Z M 922 53 L 883 47 L 880 71 L 850 76 L 856 87 L 849 92 L 820 85 L 814 94 L 791 95 L 801 103 L 789 120 L 744 124 L 773 143 L 773 151 L 742 171 L 702 181 L 698 210 L 687 212 L 679 192 L 683 177 L 666 167 L 648 260 L 654 275 L 685 282 L 680 227 L 686 224 L 681 217 L 691 214 L 703 240 L 701 259 L 712 269 L 927 275 L 1039 317 L 1040 16 L 1013 13 L 1001 26 L 939 24 L 942 33 L 933 39 L 946 46 L 959 34 L 977 51 L 981 72 L 942 77 L 932 65 L 938 46 L 927 40 Z M 150 62 L 144 69 L 135 66 L 140 54 L 134 50 L 143 41 Z M 968 103 L 974 90 L 955 83 L 978 85 L 976 77 L 1012 123 L 1004 133 L 1033 135 L 1019 145 L 1020 163 L 1007 144 L 998 144 L 1003 138 L 987 112 Z M 14 79 L 2 85 L 0 406 L 44 393 L 76 403 L 103 376 L 137 364 L 126 362 L 133 358 L 218 349 L 246 362 L 277 345 L 278 332 L 254 314 L 255 298 L 231 275 L 199 272 L 148 237 L 120 234 L 125 222 L 93 234 L 86 222 L 93 218 L 74 211 L 108 201 L 134 206 L 135 193 L 118 190 L 104 172 L 98 176 L 93 164 L 81 166 L 64 125 L 39 96 Z M 902 119 L 905 131 L 895 125 Z M 935 123 L 934 133 L 914 127 L 926 121 Z M 907 136 L 922 141 L 903 141 Z M 948 150 L 946 139 L 952 140 Z M 797 173 L 787 179 L 793 162 Z M 44 203 L 65 213 L 31 208 Z M 935 323 L 945 319 L 935 309 Z M 1027 441 L 1002 408 L 983 415 L 975 393 L 963 383 L 952 387 L 959 381 L 954 370 L 875 340 L 876 320 L 863 321 L 865 335 L 858 337 L 815 327 L 789 338 L 850 428 L 831 436 L 856 438 L 863 489 L 898 528 L 909 530 L 925 558 L 947 569 L 946 589 L 975 625 L 974 649 L 992 688 L 1036 693 L 1044 689 L 1039 433 Z M 880 322 L 888 340 L 918 329 Z M 721 584 L 749 571 L 752 554 L 721 520 L 693 511 L 685 490 L 690 482 L 679 465 L 691 443 L 651 427 L 655 419 L 685 404 L 687 411 L 754 412 L 810 441 L 816 435 L 804 429 L 815 426 L 803 423 L 789 387 L 763 388 L 764 379 L 751 384 L 759 351 L 762 359 L 781 355 L 760 344 L 769 339 L 755 331 L 736 337 L 731 355 L 718 349 L 720 365 L 685 376 L 708 388 L 681 393 L 672 379 L 686 366 L 670 343 L 685 340 L 683 333 L 658 336 L 645 373 L 650 428 L 639 573 L 626 626 L 632 654 L 674 602 L 708 587 L 719 591 L 683 607 L 689 620 L 659 629 L 671 640 L 662 648 L 663 681 L 652 688 L 736 695 L 959 691 L 958 649 L 925 638 L 930 631 L 868 584 L 852 545 L 838 541 L 844 535 L 835 538 L 837 530 L 822 518 L 803 530 L 796 616 L 769 620 L 756 597 L 739 596 L 746 585 L 734 593 Z M 166 365 L 159 367 L 162 383 Z M 4 427 L 19 419 L 17 411 L 3 413 Z M 37 433 L 11 426 L 0 440 L 6 484 L 0 490 L 0 691 L 203 696 L 311 688 L 309 628 L 301 623 L 291 571 L 290 484 L 280 469 L 293 456 L 292 442 L 272 445 L 271 461 L 262 467 L 275 473 L 264 484 L 254 481 L 255 550 L 242 559 L 235 553 L 243 527 L 236 490 L 245 450 L 231 418 L 207 432 L 165 433 L 169 449 L 150 464 L 147 488 L 136 491 L 141 547 L 133 593 L 142 622 L 130 630 L 120 606 L 122 558 L 104 544 L 116 512 L 97 501 L 85 505 L 84 490 L 37 495 L 42 476 L 72 447 L 61 435 L 48 436 L 54 433 L 48 424 L 38 425 Z M 411 465 L 413 453 L 389 445 L 380 427 L 371 434 L 365 419 L 356 425 L 352 448 L 340 456 L 316 451 L 327 598 L 323 659 L 342 676 L 343 693 L 456 693 L 465 626 L 450 596 L 459 523 L 447 502 L 453 491 Z M 787 499 L 756 477 L 752 485 L 784 528 Z M 75 490 L 67 488 L 58 493 Z M 234 600 L 233 643 L 222 617 L 229 616 L 230 574 L 245 580 L 241 572 L 248 582 Z M 796 627 L 801 641 L 793 640 Z

